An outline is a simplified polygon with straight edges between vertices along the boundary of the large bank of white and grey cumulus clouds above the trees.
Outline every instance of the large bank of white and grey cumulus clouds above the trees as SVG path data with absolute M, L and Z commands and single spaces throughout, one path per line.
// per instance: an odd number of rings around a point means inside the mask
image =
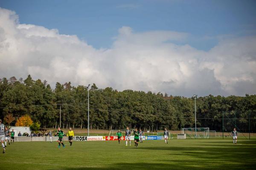
M 169 95 L 255 94 L 256 37 L 224 38 L 208 52 L 173 43 L 188 37 L 123 26 L 111 48 L 95 49 L 76 35 L 20 24 L 15 12 L 0 9 L 0 77 L 30 74 L 53 88 L 71 81 Z

